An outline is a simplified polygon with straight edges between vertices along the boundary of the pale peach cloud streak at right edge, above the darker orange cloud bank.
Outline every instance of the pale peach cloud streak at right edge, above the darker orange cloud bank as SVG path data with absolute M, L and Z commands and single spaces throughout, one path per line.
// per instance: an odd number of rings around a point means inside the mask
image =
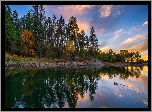
M 135 41 L 140 41 L 140 40 L 144 40 L 146 39 L 146 34 L 137 34 L 135 37 L 133 38 L 128 38 L 127 40 L 125 40 L 121 45 L 124 44 L 133 44 Z

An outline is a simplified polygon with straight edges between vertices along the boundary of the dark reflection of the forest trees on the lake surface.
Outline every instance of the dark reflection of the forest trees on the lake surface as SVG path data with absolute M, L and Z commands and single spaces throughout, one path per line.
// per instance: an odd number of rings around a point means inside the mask
M 6 69 L 5 107 L 81 107 L 80 104 L 86 99 L 88 100 L 88 98 L 90 101 L 97 101 L 98 98 L 103 97 L 102 93 L 97 91 L 101 89 L 101 87 L 98 87 L 100 86 L 100 84 L 98 84 L 99 80 L 110 80 L 116 77 L 123 80 L 127 80 L 129 77 L 138 79 L 142 69 L 141 67 Z M 115 81 L 113 85 L 128 86 L 127 82 L 123 83 Z M 113 93 L 122 97 L 118 90 L 115 90 Z M 97 96 L 98 98 L 95 98 Z M 143 100 L 142 102 L 146 104 L 147 100 Z

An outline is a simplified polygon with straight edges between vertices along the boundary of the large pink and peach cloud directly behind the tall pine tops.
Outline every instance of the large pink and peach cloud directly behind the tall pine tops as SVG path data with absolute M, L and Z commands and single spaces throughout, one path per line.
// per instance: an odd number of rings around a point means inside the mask
M 65 23 L 68 24 L 68 20 L 73 16 L 76 17 L 77 25 L 79 27 L 79 31 L 84 30 L 85 33 L 91 28 L 91 25 L 88 21 L 84 21 L 84 18 L 81 15 L 86 14 L 88 10 L 91 10 L 94 5 L 59 5 L 59 6 L 49 6 L 45 5 L 46 13 L 49 15 L 58 16 L 62 15 Z

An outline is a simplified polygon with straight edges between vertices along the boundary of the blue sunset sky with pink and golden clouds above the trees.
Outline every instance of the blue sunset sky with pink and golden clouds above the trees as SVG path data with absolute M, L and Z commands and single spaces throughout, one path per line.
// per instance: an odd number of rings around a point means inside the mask
M 17 10 L 19 18 L 32 9 L 31 5 L 9 5 Z M 62 15 L 65 23 L 76 17 L 79 31 L 90 36 L 93 26 L 99 49 L 118 53 L 127 49 L 139 51 L 148 59 L 148 5 L 44 5 L 45 16 L 57 19 Z

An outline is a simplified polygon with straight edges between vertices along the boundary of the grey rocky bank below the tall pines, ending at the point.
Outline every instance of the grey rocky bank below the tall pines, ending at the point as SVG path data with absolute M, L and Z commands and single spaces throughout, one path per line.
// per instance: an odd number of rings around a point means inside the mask
M 74 62 L 74 61 L 69 61 L 69 62 L 54 62 L 54 63 L 49 63 L 49 62 L 12 62 L 12 61 L 5 61 L 5 67 L 17 67 L 17 68 L 35 68 L 35 67 L 66 67 L 66 68 L 77 68 L 77 67 L 86 67 L 86 66 L 103 66 L 101 62 Z

